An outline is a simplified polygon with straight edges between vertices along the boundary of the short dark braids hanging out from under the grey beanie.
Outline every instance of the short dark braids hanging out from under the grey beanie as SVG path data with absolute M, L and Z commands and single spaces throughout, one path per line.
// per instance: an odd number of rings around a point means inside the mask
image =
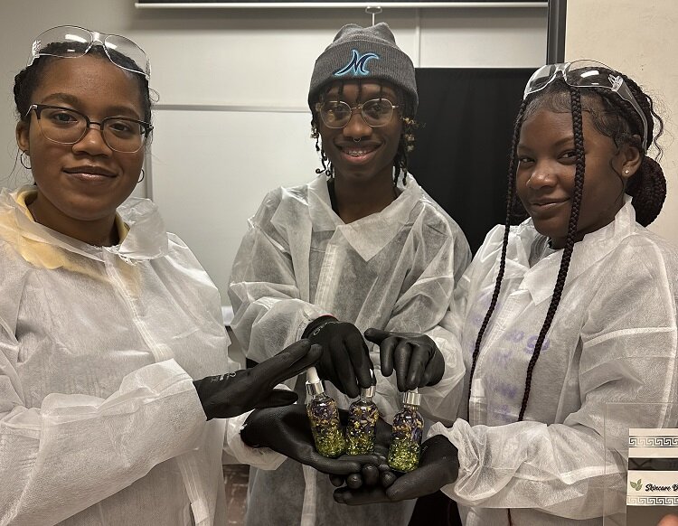
M 379 82 L 380 89 L 383 88 L 381 80 Z M 359 83 L 359 89 L 362 89 L 362 82 Z M 322 103 L 325 101 L 325 97 L 329 90 L 332 88 L 332 84 L 328 84 L 324 89 L 320 89 L 318 99 L 313 103 Z M 408 160 L 409 155 L 412 150 L 414 150 L 414 130 L 419 127 L 419 124 L 414 120 L 414 106 L 412 100 L 409 97 L 406 97 L 405 91 L 400 89 L 398 86 L 392 86 L 396 92 L 396 97 L 398 100 L 402 101 L 399 108 L 400 118 L 402 119 L 402 130 L 400 132 L 400 140 L 398 143 L 398 151 L 393 157 L 393 184 L 398 184 L 400 179 L 400 174 L 402 174 L 402 183 L 406 184 L 406 178 L 408 174 Z M 344 83 L 339 86 L 339 93 L 341 94 L 344 90 Z M 315 174 L 325 174 L 328 179 L 334 177 L 334 166 L 332 162 L 327 159 L 325 150 L 320 143 L 320 132 L 319 130 L 320 115 L 317 111 L 313 111 L 311 115 L 311 138 L 315 139 L 315 151 L 320 156 L 320 163 L 323 165 L 322 168 L 316 168 Z

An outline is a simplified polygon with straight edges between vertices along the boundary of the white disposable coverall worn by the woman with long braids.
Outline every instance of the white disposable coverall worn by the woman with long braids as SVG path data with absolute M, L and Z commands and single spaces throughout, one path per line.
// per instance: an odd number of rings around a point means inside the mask
M 494 228 L 455 291 L 446 326 L 461 331 L 466 371 L 497 276 L 504 227 Z M 513 227 L 506 270 L 485 331 L 470 399 L 453 427 L 431 427 L 459 450 L 443 491 L 466 526 L 626 523 L 629 427 L 676 427 L 678 250 L 625 206 L 575 244 L 551 330 L 518 422 L 527 365 L 551 301 L 562 250 L 529 265 L 544 241 L 532 221 Z M 447 322 L 450 322 L 447 324 Z M 455 328 L 457 327 L 457 328 Z M 607 402 L 638 404 L 620 410 Z M 469 426 L 470 423 L 470 426 Z M 607 451 L 604 441 L 607 433 Z M 607 522 L 606 522 L 607 523 Z

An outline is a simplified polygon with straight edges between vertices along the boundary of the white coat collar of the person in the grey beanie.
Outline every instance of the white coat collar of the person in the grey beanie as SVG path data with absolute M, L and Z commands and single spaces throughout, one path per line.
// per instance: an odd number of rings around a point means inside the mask
M 369 261 L 410 221 L 410 211 L 422 197 L 419 184 L 410 174 L 407 176 L 407 184 L 400 183 L 398 190 L 398 199 L 382 211 L 346 224 L 332 210 L 325 177 L 317 177 L 308 184 L 308 208 L 313 230 L 341 232 L 351 247 L 365 261 Z

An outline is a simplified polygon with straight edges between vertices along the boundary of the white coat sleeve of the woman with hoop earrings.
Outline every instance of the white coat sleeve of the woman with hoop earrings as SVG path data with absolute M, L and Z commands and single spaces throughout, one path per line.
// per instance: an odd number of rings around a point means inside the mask
M 0 332 L 0 524 L 63 521 L 197 446 L 204 412 L 174 360 L 128 374 L 108 399 L 52 393 L 27 408 L 9 340 Z

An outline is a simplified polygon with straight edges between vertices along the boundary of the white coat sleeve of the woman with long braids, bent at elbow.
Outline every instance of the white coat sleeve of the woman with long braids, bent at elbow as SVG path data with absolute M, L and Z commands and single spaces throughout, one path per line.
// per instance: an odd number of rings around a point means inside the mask
M 459 419 L 431 428 L 429 435 L 446 435 L 459 451 L 457 482 L 445 493 L 468 506 L 582 520 L 600 516 L 606 489 L 625 491 L 628 428 L 676 425 L 676 404 L 661 404 L 676 399 L 675 277 L 656 248 L 642 252 L 608 265 L 609 286 L 589 305 L 579 337 L 578 411 L 562 424 L 471 427 Z M 625 260 L 635 261 L 633 272 Z M 629 406 L 608 410 L 610 402 Z

